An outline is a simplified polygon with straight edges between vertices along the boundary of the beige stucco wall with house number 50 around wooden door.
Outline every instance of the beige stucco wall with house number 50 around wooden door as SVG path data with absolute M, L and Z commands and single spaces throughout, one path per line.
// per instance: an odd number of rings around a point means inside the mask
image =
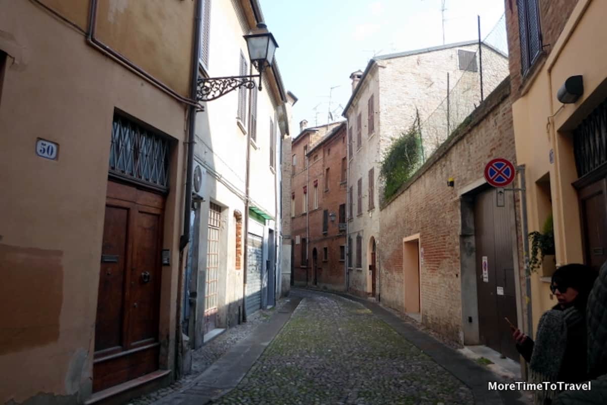
M 175 138 L 163 238 L 171 266 L 163 267 L 160 317 L 160 365 L 173 365 L 185 106 L 32 2 L 1 0 L 0 9 L 2 31 L 28 56 L 19 65 L 7 59 L 1 87 L 0 246 L 18 265 L 0 271 L 11 280 L 0 287 L 0 403 L 45 394 L 49 404 L 76 403 L 91 392 L 115 109 Z M 59 144 L 56 161 L 36 156 L 38 137 Z

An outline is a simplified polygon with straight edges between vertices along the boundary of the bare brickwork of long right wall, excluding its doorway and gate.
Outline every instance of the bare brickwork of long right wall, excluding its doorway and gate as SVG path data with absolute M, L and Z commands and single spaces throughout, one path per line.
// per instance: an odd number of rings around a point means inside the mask
M 482 178 L 484 166 L 495 156 L 515 161 L 510 107 L 506 80 L 473 112 L 470 123 L 456 131 L 382 207 L 378 246 L 382 303 L 404 310 L 402 241 L 419 233 L 424 249 L 422 323 L 454 341 L 461 341 L 463 333 L 458 189 Z M 455 178 L 455 187 L 447 187 L 449 177 Z M 516 217 L 518 221 L 518 210 Z M 519 267 L 523 269 L 522 264 Z

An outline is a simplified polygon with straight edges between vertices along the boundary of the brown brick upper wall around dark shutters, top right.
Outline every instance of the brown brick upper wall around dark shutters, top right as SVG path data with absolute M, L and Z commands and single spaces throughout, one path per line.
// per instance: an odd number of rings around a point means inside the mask
M 544 55 L 541 55 L 536 65 L 545 61 L 550 54 L 552 46 L 557 42 L 569 16 L 578 0 L 538 0 L 540 6 L 540 30 Z M 521 87 L 525 79 L 521 75 L 521 44 L 518 38 L 518 8 L 516 0 L 506 0 L 506 32 L 508 39 L 508 53 L 510 62 L 510 84 L 512 85 L 512 101 L 520 97 Z M 526 78 L 532 76 L 531 69 Z

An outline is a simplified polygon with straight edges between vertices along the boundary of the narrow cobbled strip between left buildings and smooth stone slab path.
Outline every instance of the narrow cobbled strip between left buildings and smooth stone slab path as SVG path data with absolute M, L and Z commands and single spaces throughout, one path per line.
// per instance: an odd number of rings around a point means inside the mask
M 244 340 L 258 326 L 266 324 L 270 316 L 285 304 L 285 300 L 277 301 L 276 307 L 269 310 L 259 310 L 251 316 L 248 316 L 246 323 L 232 326 L 228 330 L 217 336 L 214 340 L 192 352 L 192 372 L 181 378 L 170 386 L 143 395 L 135 400 L 131 400 L 129 405 L 149 405 L 160 398 L 166 397 L 171 393 L 188 387 L 194 380 L 208 369 L 217 359 L 219 359 L 231 347 Z

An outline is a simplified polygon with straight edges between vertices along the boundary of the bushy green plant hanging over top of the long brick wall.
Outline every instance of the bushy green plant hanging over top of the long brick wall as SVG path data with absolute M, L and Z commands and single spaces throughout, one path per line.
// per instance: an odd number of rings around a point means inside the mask
M 402 132 L 388 148 L 381 161 L 381 176 L 384 181 L 384 198 L 396 194 L 398 189 L 419 169 L 422 156 L 419 118 L 409 130 Z

